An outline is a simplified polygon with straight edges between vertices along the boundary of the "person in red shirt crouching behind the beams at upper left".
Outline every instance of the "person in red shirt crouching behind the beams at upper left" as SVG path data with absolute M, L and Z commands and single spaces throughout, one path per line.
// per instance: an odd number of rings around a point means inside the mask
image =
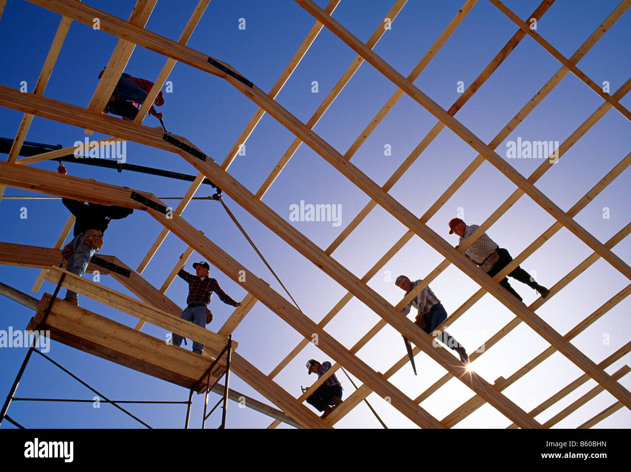
M 103 76 L 103 69 L 98 78 Z M 134 121 L 140 105 L 144 103 L 145 98 L 151 91 L 153 82 L 148 80 L 132 77 L 129 74 L 121 74 L 121 78 L 114 88 L 114 93 L 110 97 L 107 106 L 105 107 L 105 113 L 111 113 L 113 115 L 122 116 L 123 119 L 128 121 Z M 164 105 L 164 97 L 162 97 L 162 91 L 158 93 L 158 96 L 153 101 L 157 107 Z M 149 114 L 155 116 L 157 119 L 162 120 L 162 113 L 156 113 L 155 108 L 151 105 Z

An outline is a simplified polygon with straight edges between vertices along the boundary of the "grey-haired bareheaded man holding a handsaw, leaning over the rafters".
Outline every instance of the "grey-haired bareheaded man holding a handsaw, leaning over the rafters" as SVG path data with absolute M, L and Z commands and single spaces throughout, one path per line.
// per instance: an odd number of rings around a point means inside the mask
M 412 283 L 408 277 L 399 275 L 396 281 L 394 281 L 394 285 L 404 290 L 405 294 L 408 295 L 408 293 L 414 290 L 422 281 L 423 280 L 419 279 Z M 432 334 L 433 331 L 447 319 L 447 311 L 428 286 L 423 288 L 409 304 L 403 307 L 401 313 L 408 316 L 411 305 L 414 305 L 416 310 L 418 310 L 414 324 L 427 334 Z M 464 347 L 461 346 L 456 339 L 449 336 L 447 331 L 443 330 L 442 334 L 437 336 L 437 339 L 451 350 L 456 351 L 460 356 L 461 362 L 467 362 L 469 357 L 466 350 L 464 350 Z

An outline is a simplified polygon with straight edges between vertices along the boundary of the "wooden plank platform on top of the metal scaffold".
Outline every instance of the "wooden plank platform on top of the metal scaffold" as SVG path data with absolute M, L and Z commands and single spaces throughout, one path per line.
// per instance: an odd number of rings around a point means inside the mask
M 198 383 L 213 362 L 211 357 L 168 345 L 163 339 L 141 333 L 60 298 L 52 304 L 44 325 L 37 327 L 51 298 L 48 293 L 44 294 L 27 329 L 50 330 L 50 338 L 55 341 L 187 389 Z M 225 370 L 225 360 L 220 360 L 211 373 L 211 382 Z M 204 390 L 205 386 L 196 391 L 201 393 Z

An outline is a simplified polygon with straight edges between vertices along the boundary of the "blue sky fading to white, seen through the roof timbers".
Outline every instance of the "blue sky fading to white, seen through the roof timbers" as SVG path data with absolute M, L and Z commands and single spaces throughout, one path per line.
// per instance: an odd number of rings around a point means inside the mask
M 133 3 L 122 1 L 86 3 L 125 19 L 133 8 Z M 322 7 L 326 5 L 322 0 L 317 3 Z M 341 0 L 333 16 L 360 40 L 367 41 L 375 28 L 379 27 L 392 3 L 386 0 Z M 195 4 L 194 1 L 180 1 L 176 8 L 172 3 L 158 1 L 146 28 L 177 40 Z M 408 75 L 462 4 L 461 1 L 452 0 L 439 3 L 408 1 L 392 23 L 392 29 L 384 34 L 375 47 L 375 52 L 399 73 Z M 505 4 L 521 18 L 527 18 L 538 6 L 538 2 L 531 0 L 512 0 Z M 565 57 L 570 57 L 616 4 L 615 1 L 557 0 L 538 21 L 537 32 Z M 32 91 L 60 18 L 56 13 L 26 1 L 7 2 L 0 18 L 0 40 L 5 45 L 3 62 L 6 64 L 0 69 L 0 83 L 19 88 L 21 81 L 26 81 L 28 90 Z M 245 30 L 239 29 L 240 18 L 245 19 Z M 228 62 L 259 88 L 268 91 L 314 21 L 312 16 L 292 1 L 213 0 L 188 45 Z M 608 81 L 611 93 L 631 74 L 631 64 L 623 60 L 628 56 L 630 23 L 631 13 L 627 12 L 578 64 L 596 83 Z M 516 30 L 516 25 L 492 4 L 478 1 L 473 11 L 415 81 L 415 85 L 440 106 L 448 109 L 459 97 L 458 81 L 463 81 L 465 87 L 470 85 Z M 73 22 L 44 95 L 86 107 L 97 86 L 97 74 L 107 64 L 116 41 L 117 38 L 107 33 Z M 298 119 L 306 122 L 355 57 L 355 52 L 324 28 L 276 100 Z M 154 81 L 164 62 L 165 57 L 136 47 L 126 72 Z M 560 64 L 550 54 L 534 40 L 526 37 L 463 109 L 459 110 L 456 118 L 488 143 L 559 68 Z M 165 105 L 159 111 L 163 112 L 169 131 L 186 136 L 216 162 L 223 162 L 257 106 L 226 81 L 184 64 L 176 64 L 168 80 L 172 81 L 173 91 L 165 93 Z M 313 81 L 318 83 L 318 93 L 312 92 Z M 396 86 L 372 66 L 362 64 L 345 90 L 315 126 L 315 133 L 344 154 L 395 90 Z M 517 138 L 562 143 L 601 103 L 601 98 L 592 90 L 575 76 L 568 74 L 498 146 L 497 153 L 505 156 L 506 141 Z M 627 95 L 620 103 L 628 109 L 631 107 L 631 98 Z M 15 137 L 22 115 L 16 110 L 2 108 L 0 136 Z M 435 123 L 436 119 L 427 110 L 410 97 L 403 97 L 355 153 L 351 162 L 377 184 L 383 184 Z M 144 124 L 158 126 L 158 121 L 150 117 Z M 629 122 L 616 110 L 610 110 L 538 180 L 536 187 L 545 192 L 560 208 L 569 209 L 628 154 L 630 130 Z M 99 133 L 93 136 L 95 139 L 105 137 Z M 83 141 L 84 137 L 83 129 L 35 117 L 27 141 L 61 144 L 65 147 L 73 145 L 74 141 Z M 256 193 L 293 138 L 290 131 L 265 115 L 246 143 L 245 156 L 237 156 L 228 172 L 252 193 Z M 391 156 L 384 155 L 386 145 L 391 147 Z M 475 150 L 449 129 L 444 129 L 391 189 L 390 194 L 415 215 L 421 216 L 476 156 Z M 136 143 L 127 143 L 127 162 L 197 174 L 179 156 Z M 541 160 L 507 159 L 507 162 L 528 177 L 540 165 Z M 38 163 L 35 167 L 54 170 L 56 163 Z M 187 182 L 132 172 L 118 174 L 115 170 L 72 164 L 67 167 L 71 175 L 150 191 L 158 197 L 182 196 L 189 187 Z M 630 180 L 629 171 L 626 170 L 575 217 L 578 223 L 601 242 L 610 239 L 628 223 Z M 457 215 L 459 208 L 468 224 L 481 224 L 515 189 L 512 182 L 485 162 L 428 221 L 428 227 L 455 245 L 457 238 L 448 234 L 447 221 Z M 28 192 L 18 189 L 7 189 L 5 192 L 8 196 L 26 194 Z M 211 188 L 205 186 L 197 193 L 198 196 L 208 194 L 211 194 Z M 239 208 L 230 198 L 225 200 L 305 314 L 315 322 L 320 321 L 346 291 L 253 216 Z M 299 204 L 301 200 L 306 203 L 341 205 L 340 227 L 334 227 L 331 222 L 291 222 L 305 236 L 326 249 L 369 202 L 369 197 L 315 151 L 302 145 L 262 201 L 289 221 L 290 205 Z M 175 206 L 176 202 L 171 202 Z M 28 210 L 26 219 L 20 218 L 22 207 Z M 603 218 L 604 208 L 608 208 L 609 218 Z M 3 215 L 0 218 L 0 240 L 45 247 L 54 244 L 69 215 L 61 202 L 54 200 L 3 199 L 0 211 Z M 192 201 L 183 216 L 192 225 L 203 230 L 224 251 L 268 281 L 274 290 L 283 293 L 280 285 L 218 203 Z M 528 197 L 522 197 L 488 230 L 488 235 L 516 257 L 553 222 L 553 218 L 540 206 Z M 110 225 L 105 233 L 102 252 L 115 254 L 124 263 L 136 268 L 160 229 L 160 225 L 149 215 L 135 211 L 126 220 L 114 221 Z M 375 208 L 336 249 L 333 257 L 356 276 L 362 277 L 404 232 L 406 228 L 398 220 L 383 209 Z M 161 286 L 184 249 L 184 242 L 169 235 L 143 276 L 153 285 Z M 522 267 L 530 273 L 536 273 L 541 284 L 552 286 L 592 252 L 563 228 L 528 257 Z M 616 245 L 613 252 L 628 263 L 631 260 L 631 243 L 625 239 Z M 192 271 L 190 264 L 199 258 L 194 253 L 187 264 L 188 269 Z M 394 305 L 403 295 L 392 283 L 398 274 L 408 274 L 412 280 L 424 278 L 442 259 L 430 245 L 415 236 L 370 280 L 369 285 Z M 27 293 L 30 292 L 37 274 L 38 269 L 0 266 L 0 280 Z M 211 268 L 211 274 L 233 298 L 241 300 L 246 295 L 244 288 L 215 268 Z M 388 274 L 391 276 L 390 280 Z M 101 283 L 128 293 L 107 276 L 102 277 Z M 512 285 L 524 297 L 526 304 L 536 299 L 536 293 L 528 287 L 516 281 Z M 628 280 L 622 274 L 605 261 L 599 260 L 546 302 L 537 310 L 537 314 L 559 333 L 565 334 L 627 285 Z M 478 290 L 475 282 L 453 266 L 432 281 L 430 287 L 442 300 L 449 314 Z M 40 298 L 44 292 L 52 293 L 52 290 L 54 286 L 45 282 L 40 292 L 32 295 Z M 167 296 L 184 306 L 186 293 L 184 281 L 177 279 L 168 289 Z M 129 326 L 136 323 L 133 317 L 85 297 L 80 300 L 81 306 L 88 310 Z M 217 297 L 213 297 L 211 309 L 215 314 L 215 321 L 209 328 L 216 331 L 230 316 L 232 307 L 221 304 Z M 32 310 L 4 297 L 0 298 L 0 311 L 3 313 L 0 329 L 8 329 L 8 326 L 23 329 L 33 316 Z M 594 362 L 601 362 L 627 343 L 630 311 L 631 302 L 623 300 L 577 336 L 573 344 Z M 512 312 L 494 298 L 485 295 L 453 324 L 450 332 L 470 352 L 478 346 L 473 346 L 476 340 L 490 338 L 512 317 Z M 353 299 L 327 325 L 326 331 L 350 348 L 379 319 L 362 302 Z M 143 331 L 160 338 L 165 334 L 164 330 L 158 328 Z M 609 344 L 603 343 L 605 335 L 608 335 Z M 266 374 L 301 339 L 300 334 L 262 304 L 257 304 L 251 310 L 233 336 L 240 343 L 239 353 Z M 467 343 L 464 339 L 471 341 Z M 500 376 L 509 377 L 547 347 L 548 344 L 529 327 L 519 326 L 476 361 L 475 370 L 488 382 L 493 382 Z M 3 395 L 8 392 L 25 353 L 25 349 L 18 348 L 0 350 L 0 392 Z M 374 370 L 385 372 L 404 353 L 400 334 L 386 326 L 358 355 Z M 110 398 L 165 401 L 187 398 L 187 391 L 182 387 L 158 381 L 68 346 L 54 343 L 50 355 Z M 300 394 L 301 384 L 307 386 L 312 382 L 313 376 L 307 376 L 304 367 L 309 358 L 335 361 L 315 346 L 307 346 L 275 379 L 296 397 Z M 606 369 L 607 372 L 615 372 L 630 359 L 629 355 L 623 357 Z M 412 398 L 445 372 L 424 353 L 416 356 L 416 365 L 420 371 L 418 377 L 412 375 L 409 366 L 405 366 L 390 379 Z M 578 367 L 557 353 L 504 393 L 519 406 L 529 410 L 581 373 Z M 340 373 L 338 377 L 343 381 L 345 397 L 348 397 L 353 387 L 343 374 Z M 631 387 L 627 377 L 623 377 L 620 383 L 627 389 Z M 244 394 L 264 400 L 258 392 L 236 376 L 231 377 L 231 386 Z M 586 382 L 574 394 L 537 419 L 542 422 L 547 420 L 594 386 L 596 382 Z M 31 361 L 17 394 L 51 398 L 92 397 L 91 392 L 38 357 Z M 452 379 L 421 406 L 440 420 L 472 394 L 468 387 Z M 370 395 L 369 401 L 389 427 L 413 427 L 410 420 L 377 395 Z M 576 427 L 614 401 L 613 396 L 603 392 L 558 423 L 557 427 Z M 198 427 L 196 422 L 201 416 L 202 403 L 201 398 L 194 401 L 193 427 Z M 138 425 L 131 418 L 105 405 L 98 410 L 92 408 L 91 404 L 45 404 L 44 407 L 37 408 L 35 415 L 32 404 L 14 402 L 9 414 L 27 427 L 124 428 Z M 229 408 L 228 427 L 261 428 L 271 422 L 266 416 L 247 408 L 237 408 L 234 403 Z M 182 426 L 186 412 L 184 406 L 131 406 L 129 410 L 154 427 L 172 428 Z M 220 421 L 220 416 L 213 418 L 216 422 Z M 622 409 L 599 423 L 598 427 L 628 427 L 630 420 L 630 412 Z M 212 422 L 213 420 L 211 424 Z M 509 424 L 510 420 L 495 408 L 485 405 L 456 427 L 495 428 Z M 2 427 L 13 426 L 3 422 Z M 367 407 L 361 404 L 337 423 L 336 427 L 378 428 L 380 425 L 370 415 Z

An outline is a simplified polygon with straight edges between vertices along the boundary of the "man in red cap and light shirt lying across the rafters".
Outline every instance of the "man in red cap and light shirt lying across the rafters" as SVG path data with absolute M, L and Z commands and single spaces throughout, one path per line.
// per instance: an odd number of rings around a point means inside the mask
M 478 225 L 467 226 L 460 218 L 454 218 L 449 221 L 449 234 L 456 233 L 460 237 L 460 241 L 456 246 L 456 249 L 458 249 L 458 247 L 460 247 L 460 245 L 463 244 L 478 228 L 480 228 Z M 487 233 L 482 233 L 476 242 L 471 244 L 466 251 L 464 251 L 464 255 L 471 259 L 474 263 L 478 264 L 478 266 L 480 266 L 480 268 L 491 277 L 497 275 L 510 263 L 510 261 L 512 261 L 512 257 L 510 257 L 509 252 L 503 247 L 499 247 L 496 242 L 487 236 Z M 546 298 L 550 295 L 550 290 L 545 288 L 543 285 L 539 285 L 528 272 L 524 271 L 524 269 L 519 266 L 514 268 L 509 276 L 515 280 L 519 280 L 521 283 L 525 283 L 530 288 L 534 288 L 534 290 L 541 295 L 541 298 Z M 507 277 L 504 277 L 504 280 L 500 281 L 500 285 L 506 288 L 506 290 L 512 293 L 515 297 L 519 298 L 520 302 L 522 301 L 519 293 L 515 292 L 512 286 L 510 286 Z

